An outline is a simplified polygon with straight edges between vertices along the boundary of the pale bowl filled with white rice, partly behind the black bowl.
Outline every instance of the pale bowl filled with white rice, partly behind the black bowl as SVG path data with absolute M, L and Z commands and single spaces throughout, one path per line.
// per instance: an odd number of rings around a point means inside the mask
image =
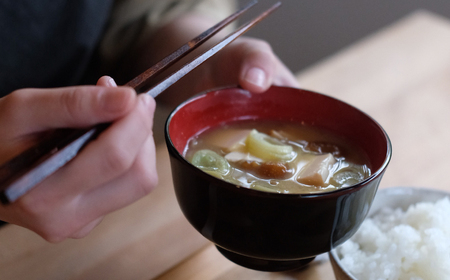
M 366 220 L 330 252 L 337 280 L 450 279 L 450 193 L 379 190 Z

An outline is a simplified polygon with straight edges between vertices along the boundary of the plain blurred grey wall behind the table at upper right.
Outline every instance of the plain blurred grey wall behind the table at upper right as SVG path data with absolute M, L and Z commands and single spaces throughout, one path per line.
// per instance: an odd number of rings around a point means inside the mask
M 239 0 L 240 5 L 250 0 Z M 276 0 L 259 0 L 241 22 Z M 281 0 L 248 35 L 269 41 L 294 72 L 304 69 L 416 10 L 450 18 L 450 0 Z M 449 50 L 450 51 L 450 50 Z

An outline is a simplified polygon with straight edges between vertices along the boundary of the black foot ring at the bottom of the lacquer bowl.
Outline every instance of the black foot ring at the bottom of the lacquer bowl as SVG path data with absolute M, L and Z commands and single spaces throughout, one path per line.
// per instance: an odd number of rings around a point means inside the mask
M 240 266 L 260 271 L 288 271 L 299 269 L 309 264 L 315 258 L 312 257 L 307 259 L 288 261 L 265 260 L 233 253 L 219 246 L 216 246 L 216 248 L 230 261 Z

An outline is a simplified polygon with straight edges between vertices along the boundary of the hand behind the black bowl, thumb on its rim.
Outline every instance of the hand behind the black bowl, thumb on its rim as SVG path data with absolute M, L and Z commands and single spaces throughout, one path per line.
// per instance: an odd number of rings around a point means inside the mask
M 207 60 L 189 77 L 160 97 L 177 105 L 195 93 L 228 85 L 239 85 L 254 93 L 271 85 L 299 87 L 297 79 L 262 40 L 241 37 Z

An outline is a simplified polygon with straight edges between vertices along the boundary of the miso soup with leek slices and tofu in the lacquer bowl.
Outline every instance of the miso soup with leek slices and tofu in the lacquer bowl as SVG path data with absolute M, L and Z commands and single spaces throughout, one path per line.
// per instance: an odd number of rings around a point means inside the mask
M 332 191 L 371 174 L 361 148 L 329 131 L 289 122 L 212 128 L 190 139 L 184 156 L 213 176 L 267 192 Z

